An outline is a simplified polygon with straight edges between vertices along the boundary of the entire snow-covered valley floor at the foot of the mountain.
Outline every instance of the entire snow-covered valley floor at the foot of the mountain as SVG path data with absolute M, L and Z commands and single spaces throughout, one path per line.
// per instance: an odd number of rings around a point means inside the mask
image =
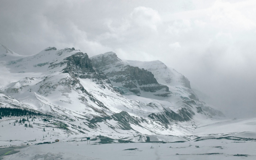
M 24 125 L 15 126 L 9 124 L 13 120 L 4 120 L 0 122 L 0 146 L 1 148 L 20 146 L 21 143 L 29 144 L 28 147 L 19 149 L 20 152 L 2 157 L 4 160 L 10 159 L 256 159 L 256 118 L 251 119 L 232 119 L 218 121 L 204 121 L 195 131 L 191 133 L 193 140 L 186 142 L 175 142 L 168 137 L 162 136 L 161 142 L 136 142 L 136 143 L 111 143 L 99 144 L 99 138 L 87 144 L 84 141 L 86 134 L 70 134 L 58 128 L 52 129 L 45 127 L 42 131 L 40 125 L 33 125 L 34 128 L 24 127 Z M 39 119 L 36 120 L 39 121 Z M 44 122 L 45 123 L 45 122 Z M 3 125 L 3 127 L 2 127 Z M 26 128 L 26 130 L 25 130 Z M 48 134 L 49 132 L 49 134 Z M 102 135 L 102 133 L 101 133 Z M 124 135 L 104 135 L 113 139 L 123 138 Z M 161 135 L 151 135 L 152 137 L 161 137 Z M 44 138 L 43 138 L 44 137 Z M 120 138 L 119 138 L 120 137 Z M 136 135 L 127 134 L 126 140 L 135 141 Z M 131 137 L 133 139 L 131 139 Z M 167 137 L 167 138 L 166 138 Z M 175 136 L 176 137 L 176 136 Z M 179 136 L 173 141 L 183 138 Z M 187 136 L 188 137 L 188 136 Z M 32 141 L 37 138 L 36 141 Z M 83 138 L 83 142 L 81 142 Z M 53 142 L 59 139 L 60 142 L 51 144 L 40 144 L 40 142 Z M 142 138 L 143 139 L 143 138 Z M 144 138 L 145 139 L 145 138 Z M 10 141 L 12 140 L 12 141 Z M 30 142 L 29 142 L 30 141 Z M 167 142 L 169 141 L 169 142 Z M 95 143 L 97 142 L 97 143 Z M 118 142 L 114 140 L 114 142 Z M 198 147 L 196 147 L 198 146 Z M 135 150 L 126 150 L 137 148 Z M 236 155 L 236 156 L 234 156 Z

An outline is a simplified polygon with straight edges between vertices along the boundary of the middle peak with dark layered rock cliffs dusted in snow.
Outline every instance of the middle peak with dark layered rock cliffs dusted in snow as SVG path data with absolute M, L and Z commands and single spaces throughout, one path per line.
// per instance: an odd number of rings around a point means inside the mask
M 159 84 L 154 78 L 154 74 L 145 69 L 126 65 L 114 52 L 106 52 L 90 58 L 92 66 L 101 70 L 110 79 L 113 86 L 119 90 L 127 88 L 130 92 L 140 95 L 141 92 L 166 93 L 169 88 Z M 158 94 L 161 96 L 160 94 Z

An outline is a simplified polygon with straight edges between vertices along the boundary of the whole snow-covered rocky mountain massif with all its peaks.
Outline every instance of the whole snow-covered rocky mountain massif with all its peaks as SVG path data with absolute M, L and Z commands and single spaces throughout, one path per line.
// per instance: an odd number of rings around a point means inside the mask
M 0 51 L 1 107 L 48 113 L 79 124 L 80 133 L 188 135 L 198 121 L 224 116 L 160 61 L 122 61 L 113 52 L 89 58 L 74 48 Z

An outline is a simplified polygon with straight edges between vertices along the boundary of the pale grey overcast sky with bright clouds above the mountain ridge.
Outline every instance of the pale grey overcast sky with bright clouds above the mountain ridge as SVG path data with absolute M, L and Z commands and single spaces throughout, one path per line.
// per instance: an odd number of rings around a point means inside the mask
M 160 60 L 231 117 L 256 116 L 256 1 L 0 1 L 0 44 Z

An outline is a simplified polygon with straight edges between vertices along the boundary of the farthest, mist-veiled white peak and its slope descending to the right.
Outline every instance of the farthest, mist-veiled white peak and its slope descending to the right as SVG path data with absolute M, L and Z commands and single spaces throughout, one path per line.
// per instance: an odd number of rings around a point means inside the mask
M 194 92 L 194 90 L 191 89 L 189 80 L 184 75 L 170 67 L 167 67 L 163 62 L 159 60 L 144 62 L 134 60 L 122 61 L 127 65 L 144 68 L 152 72 L 159 83 L 169 87 L 170 94 L 168 94 L 168 96 L 180 98 L 185 101 L 192 99 L 195 101 L 195 103 L 197 103 L 198 106 L 201 107 L 203 111 L 208 112 L 211 115 L 223 116 L 221 112 L 211 108 L 214 106 L 210 105 L 211 107 L 209 107 L 205 102 L 199 100 L 197 94 Z M 165 101 L 171 102 L 170 99 Z

